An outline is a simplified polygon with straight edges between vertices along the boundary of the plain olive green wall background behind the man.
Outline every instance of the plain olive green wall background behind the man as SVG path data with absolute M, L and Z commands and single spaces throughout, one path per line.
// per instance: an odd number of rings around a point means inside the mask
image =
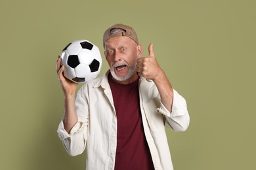
M 175 170 L 255 169 L 255 1 L 0 1 L 0 169 L 85 169 L 58 139 L 55 63 L 70 41 L 101 51 L 116 23 L 133 26 L 188 104 L 190 127 L 167 129 Z M 99 103 L 100 104 L 100 103 Z

